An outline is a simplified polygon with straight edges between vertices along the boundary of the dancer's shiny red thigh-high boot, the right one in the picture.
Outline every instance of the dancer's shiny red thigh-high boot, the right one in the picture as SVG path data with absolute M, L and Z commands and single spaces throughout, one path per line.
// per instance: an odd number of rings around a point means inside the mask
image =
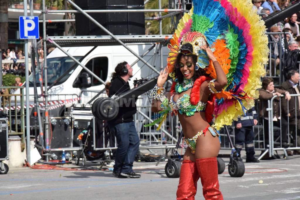
M 223 200 L 219 190 L 217 157 L 196 159 L 205 200 Z

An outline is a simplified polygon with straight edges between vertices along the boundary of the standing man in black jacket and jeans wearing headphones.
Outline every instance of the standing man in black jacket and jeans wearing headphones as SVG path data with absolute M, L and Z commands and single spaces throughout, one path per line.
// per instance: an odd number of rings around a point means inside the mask
M 119 63 L 112 74 L 109 97 L 119 95 L 130 90 L 128 80 L 133 76 L 132 68 L 127 62 Z M 135 105 L 137 98 L 125 99 L 126 103 L 119 107 L 116 118 L 108 121 L 111 130 L 117 138 L 118 149 L 115 154 L 113 175 L 118 178 L 140 178 L 140 174 L 132 170 L 134 158 L 139 150 L 140 138 L 133 121 L 137 112 Z

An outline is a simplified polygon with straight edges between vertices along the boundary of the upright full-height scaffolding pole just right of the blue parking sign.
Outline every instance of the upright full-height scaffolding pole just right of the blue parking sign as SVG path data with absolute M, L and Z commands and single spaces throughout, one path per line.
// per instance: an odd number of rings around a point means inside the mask
M 46 48 L 46 5 L 45 5 L 45 0 L 43 0 L 43 45 L 44 45 L 44 82 L 45 82 L 45 122 L 44 122 L 44 127 L 45 127 L 45 139 L 46 139 L 46 153 L 49 151 L 50 144 L 49 144 L 49 114 L 48 114 L 48 83 L 47 83 L 47 48 Z M 46 155 L 46 161 L 49 161 L 49 155 Z

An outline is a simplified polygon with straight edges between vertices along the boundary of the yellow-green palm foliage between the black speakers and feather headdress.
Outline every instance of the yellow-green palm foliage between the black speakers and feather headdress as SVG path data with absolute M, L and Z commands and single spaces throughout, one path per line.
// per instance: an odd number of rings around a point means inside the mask
M 169 8 L 169 0 L 161 0 L 161 8 Z M 149 0 L 145 9 L 159 9 L 158 0 Z M 163 12 L 162 16 L 167 13 Z M 158 17 L 158 13 L 145 13 L 145 17 Z M 173 18 L 173 19 L 172 19 Z M 162 20 L 162 34 L 172 34 L 175 30 L 176 17 L 167 17 Z M 146 35 L 159 35 L 159 20 L 146 20 Z

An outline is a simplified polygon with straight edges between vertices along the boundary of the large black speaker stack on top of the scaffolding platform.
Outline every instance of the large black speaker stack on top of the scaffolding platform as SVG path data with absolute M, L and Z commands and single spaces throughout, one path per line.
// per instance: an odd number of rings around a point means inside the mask
M 143 0 L 75 0 L 83 10 L 144 9 Z M 114 35 L 145 35 L 145 14 L 89 13 Z M 108 35 L 83 14 L 75 14 L 76 35 Z

